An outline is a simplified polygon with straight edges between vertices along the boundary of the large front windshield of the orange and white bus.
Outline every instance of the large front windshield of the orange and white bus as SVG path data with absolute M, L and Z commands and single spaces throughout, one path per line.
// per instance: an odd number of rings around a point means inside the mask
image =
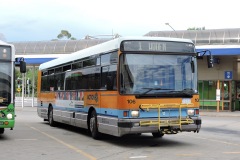
M 122 54 L 121 94 L 197 93 L 196 59 L 192 55 Z

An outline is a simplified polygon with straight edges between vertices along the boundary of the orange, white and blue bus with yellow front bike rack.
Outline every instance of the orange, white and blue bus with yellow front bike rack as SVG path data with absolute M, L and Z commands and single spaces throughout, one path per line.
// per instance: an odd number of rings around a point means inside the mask
M 191 40 L 120 37 L 43 63 L 38 115 L 95 139 L 199 132 L 196 59 Z

